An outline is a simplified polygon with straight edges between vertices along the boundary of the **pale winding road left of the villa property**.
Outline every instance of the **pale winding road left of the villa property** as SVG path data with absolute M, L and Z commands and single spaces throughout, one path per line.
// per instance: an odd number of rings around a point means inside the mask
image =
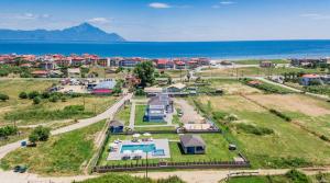
M 102 119 L 109 118 L 111 117 L 119 108 L 120 106 L 128 100 L 130 100 L 132 98 L 132 93 L 123 96 L 120 101 L 118 101 L 117 103 L 114 103 L 111 107 L 109 107 L 107 111 L 105 111 L 103 113 L 91 117 L 91 118 L 86 118 L 86 119 L 79 119 L 78 123 L 63 127 L 63 128 L 58 128 L 55 129 L 53 131 L 51 131 L 52 135 L 58 135 L 58 134 L 63 134 L 63 133 L 67 133 L 70 130 L 75 130 L 75 129 L 79 129 L 79 128 L 84 128 L 86 126 L 92 125 L 97 122 L 100 122 Z M 23 139 L 26 140 L 26 139 Z M 6 146 L 0 147 L 0 159 L 2 159 L 7 153 L 20 148 L 21 146 L 21 141 L 23 140 L 19 140 L 16 142 L 12 142 Z

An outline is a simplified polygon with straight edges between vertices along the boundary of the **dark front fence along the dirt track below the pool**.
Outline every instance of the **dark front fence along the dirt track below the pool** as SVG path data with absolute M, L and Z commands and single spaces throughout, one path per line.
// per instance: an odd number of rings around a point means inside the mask
M 94 172 L 122 172 L 122 171 L 142 171 L 161 169 L 229 169 L 229 168 L 250 168 L 250 161 L 191 161 L 191 162 L 158 162 L 158 163 L 128 163 L 118 165 L 95 167 Z

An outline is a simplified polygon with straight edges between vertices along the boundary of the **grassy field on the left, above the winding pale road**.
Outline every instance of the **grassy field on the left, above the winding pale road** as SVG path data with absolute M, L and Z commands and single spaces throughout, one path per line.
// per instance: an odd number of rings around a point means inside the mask
M 31 92 L 38 91 L 43 92 L 52 84 L 57 83 L 56 80 L 1 80 L 0 81 L 0 93 L 8 94 L 10 100 L 7 102 L 0 102 L 0 125 L 11 124 L 16 121 L 19 125 L 28 124 L 38 124 L 48 123 L 54 119 L 65 119 L 65 118 L 47 118 L 43 115 L 46 113 L 53 113 L 56 110 L 63 110 L 68 105 L 84 105 L 85 100 L 85 112 L 84 115 L 70 116 L 70 118 L 89 117 L 95 113 L 101 113 L 111 104 L 114 103 L 114 96 L 86 96 L 84 98 L 67 98 L 66 102 L 61 100 L 56 103 L 50 102 L 47 99 L 42 100 L 37 105 L 34 105 L 32 100 L 19 99 L 19 94 L 22 91 Z M 7 116 L 7 117 L 6 117 Z M 16 116 L 8 117 L 8 116 Z

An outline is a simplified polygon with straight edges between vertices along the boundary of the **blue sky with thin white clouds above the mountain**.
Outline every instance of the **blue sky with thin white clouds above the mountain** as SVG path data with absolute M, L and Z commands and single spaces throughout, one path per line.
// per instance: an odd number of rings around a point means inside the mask
M 330 39 L 330 0 L 0 0 L 0 28 L 89 22 L 136 42 Z

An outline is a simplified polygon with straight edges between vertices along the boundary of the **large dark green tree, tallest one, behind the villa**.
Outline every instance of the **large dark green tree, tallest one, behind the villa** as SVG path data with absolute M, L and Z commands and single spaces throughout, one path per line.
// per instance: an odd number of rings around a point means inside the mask
M 155 78 L 154 78 L 155 68 L 151 61 L 143 61 L 136 65 L 133 72 L 135 77 L 138 77 L 141 82 L 140 85 L 145 88 L 146 85 L 152 85 Z

